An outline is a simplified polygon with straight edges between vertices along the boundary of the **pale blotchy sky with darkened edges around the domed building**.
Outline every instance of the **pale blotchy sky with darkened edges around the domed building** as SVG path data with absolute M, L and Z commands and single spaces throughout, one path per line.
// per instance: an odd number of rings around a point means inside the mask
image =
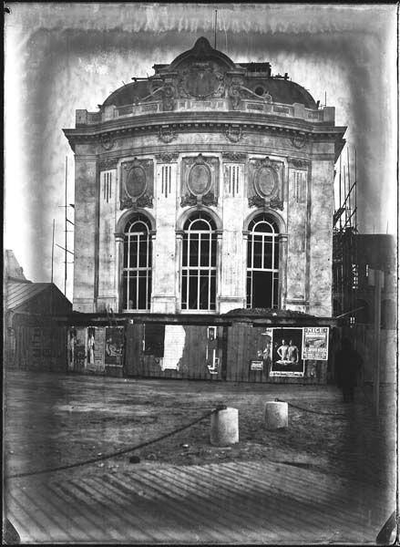
M 217 49 L 238 63 L 270 62 L 272 74 L 288 72 L 322 104 L 326 94 L 336 125 L 347 127 L 343 165 L 349 150 L 351 183 L 356 150 L 358 231 L 397 232 L 396 5 L 8 6 L 4 247 L 28 279 L 51 279 L 53 221 L 55 243 L 65 246 L 65 184 L 67 203 L 74 203 L 74 155 L 62 129 L 74 128 L 75 110 L 98 111 L 124 82 L 150 76 L 155 63 L 170 63 L 200 36 L 213 45 L 215 9 Z M 69 206 L 67 217 L 74 221 Z M 65 253 L 56 245 L 54 281 L 64 292 Z M 73 251 L 72 232 L 67 247 Z M 68 263 L 71 300 L 72 279 Z

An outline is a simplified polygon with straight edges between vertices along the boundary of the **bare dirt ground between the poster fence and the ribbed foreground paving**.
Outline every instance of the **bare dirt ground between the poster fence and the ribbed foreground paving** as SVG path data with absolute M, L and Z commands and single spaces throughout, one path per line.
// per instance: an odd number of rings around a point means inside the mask
M 264 403 L 276 397 L 291 405 L 289 427 L 271 431 L 264 428 L 262 414 Z M 57 478 L 76 479 L 166 463 L 257 459 L 393 490 L 395 388 L 381 388 L 379 417 L 374 416 L 371 400 L 371 387 L 358 387 L 354 403 L 344 404 L 333 386 L 6 372 L 5 475 L 51 470 L 133 448 L 224 404 L 239 409 L 237 445 L 212 447 L 207 417 L 145 448 L 58 471 Z M 129 463 L 133 455 L 140 461 Z

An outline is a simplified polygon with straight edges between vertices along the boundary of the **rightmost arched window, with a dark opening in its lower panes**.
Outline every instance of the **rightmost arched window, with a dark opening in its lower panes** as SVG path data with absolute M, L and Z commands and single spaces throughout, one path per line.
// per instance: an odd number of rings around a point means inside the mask
M 247 307 L 277 308 L 279 229 L 262 213 L 249 224 L 247 243 Z

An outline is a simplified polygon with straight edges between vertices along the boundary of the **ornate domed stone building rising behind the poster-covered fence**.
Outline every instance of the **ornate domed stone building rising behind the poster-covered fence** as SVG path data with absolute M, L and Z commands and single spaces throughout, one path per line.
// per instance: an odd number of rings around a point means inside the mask
M 331 316 L 334 108 L 204 37 L 153 68 L 65 129 L 74 310 Z

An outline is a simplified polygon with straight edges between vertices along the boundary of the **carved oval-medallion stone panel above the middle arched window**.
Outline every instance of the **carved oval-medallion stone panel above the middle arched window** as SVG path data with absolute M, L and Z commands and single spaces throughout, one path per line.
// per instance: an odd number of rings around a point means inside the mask
M 218 204 L 218 158 L 183 158 L 180 205 Z

